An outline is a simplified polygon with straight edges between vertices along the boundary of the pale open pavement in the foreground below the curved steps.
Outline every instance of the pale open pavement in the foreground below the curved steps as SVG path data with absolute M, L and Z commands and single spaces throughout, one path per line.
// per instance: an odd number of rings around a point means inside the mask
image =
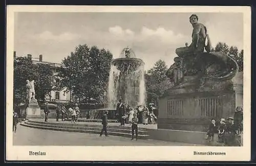
M 169 141 L 138 139 L 98 134 L 76 133 L 35 129 L 17 125 L 13 133 L 14 146 L 200 146 L 196 144 L 174 143 Z

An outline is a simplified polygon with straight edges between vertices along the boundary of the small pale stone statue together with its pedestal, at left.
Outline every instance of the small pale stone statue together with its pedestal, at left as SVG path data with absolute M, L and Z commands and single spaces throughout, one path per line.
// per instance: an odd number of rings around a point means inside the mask
M 37 103 L 37 100 L 35 99 L 35 88 L 34 84 L 35 81 L 32 80 L 31 82 L 29 80 L 26 80 L 26 88 L 27 88 L 27 108 L 26 108 L 26 118 L 40 118 L 41 117 L 41 111 L 40 107 Z

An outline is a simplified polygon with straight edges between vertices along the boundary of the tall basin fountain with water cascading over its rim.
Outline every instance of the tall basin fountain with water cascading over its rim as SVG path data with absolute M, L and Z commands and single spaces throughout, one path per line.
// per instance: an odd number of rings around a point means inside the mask
M 129 47 L 111 63 L 107 94 L 108 108 L 115 108 L 119 99 L 132 107 L 145 104 L 144 62 Z

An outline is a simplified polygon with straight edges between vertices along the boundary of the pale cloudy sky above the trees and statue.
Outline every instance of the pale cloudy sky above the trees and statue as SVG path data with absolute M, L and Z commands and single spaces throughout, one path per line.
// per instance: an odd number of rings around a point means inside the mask
M 16 56 L 61 63 L 79 44 L 110 50 L 114 58 L 130 46 L 150 69 L 159 59 L 169 67 L 175 49 L 191 43 L 189 16 L 197 14 L 212 46 L 226 42 L 243 49 L 242 13 L 60 13 L 17 12 L 14 17 Z

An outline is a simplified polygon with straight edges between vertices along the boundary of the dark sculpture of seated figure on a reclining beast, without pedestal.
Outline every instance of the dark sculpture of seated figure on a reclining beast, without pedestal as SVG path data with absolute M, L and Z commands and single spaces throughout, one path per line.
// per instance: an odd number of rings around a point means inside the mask
M 175 86 L 199 85 L 204 87 L 205 79 L 213 81 L 230 80 L 238 72 L 238 64 L 222 52 L 210 52 L 211 44 L 206 27 L 192 14 L 189 21 L 193 26 L 192 42 L 176 49 L 178 57 L 167 70 L 170 82 Z M 207 39 L 207 44 L 205 45 Z

